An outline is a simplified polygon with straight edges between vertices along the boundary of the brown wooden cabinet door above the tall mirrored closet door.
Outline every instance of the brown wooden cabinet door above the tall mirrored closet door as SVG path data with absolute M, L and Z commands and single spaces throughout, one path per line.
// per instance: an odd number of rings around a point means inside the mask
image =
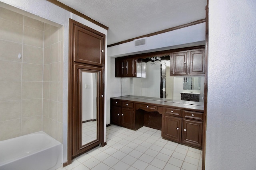
M 74 25 L 74 62 L 103 66 L 105 35 L 91 29 Z

